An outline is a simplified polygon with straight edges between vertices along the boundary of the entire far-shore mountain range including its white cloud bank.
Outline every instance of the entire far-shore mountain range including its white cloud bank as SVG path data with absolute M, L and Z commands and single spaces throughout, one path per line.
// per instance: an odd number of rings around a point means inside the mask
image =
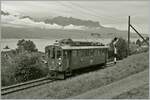
M 127 31 L 104 27 L 98 21 L 63 16 L 35 19 L 4 11 L 1 13 L 2 38 L 127 38 Z M 131 34 L 131 38 L 136 37 L 137 34 Z

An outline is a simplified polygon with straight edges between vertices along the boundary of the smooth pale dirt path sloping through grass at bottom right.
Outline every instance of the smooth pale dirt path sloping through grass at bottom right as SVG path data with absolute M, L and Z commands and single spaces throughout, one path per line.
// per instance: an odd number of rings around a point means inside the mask
M 72 97 L 78 99 L 110 99 L 148 83 L 148 69 L 109 85 Z

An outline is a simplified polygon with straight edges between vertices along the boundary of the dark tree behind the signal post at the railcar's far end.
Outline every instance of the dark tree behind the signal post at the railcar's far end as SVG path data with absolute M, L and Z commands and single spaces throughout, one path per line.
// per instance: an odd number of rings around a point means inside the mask
M 114 41 L 114 39 L 110 43 L 109 58 L 113 58 L 114 57 L 113 41 Z M 126 40 L 124 40 L 121 37 L 118 38 L 118 42 L 116 43 L 116 48 L 117 48 L 117 58 L 118 59 L 123 59 L 123 58 L 127 57 L 128 45 L 127 45 Z

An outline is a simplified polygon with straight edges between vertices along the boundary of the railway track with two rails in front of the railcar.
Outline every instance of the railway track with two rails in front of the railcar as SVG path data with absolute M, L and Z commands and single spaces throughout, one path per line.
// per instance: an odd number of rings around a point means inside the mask
M 40 79 L 33 80 L 33 81 L 28 81 L 28 82 L 24 82 L 24 83 L 19 83 L 19 84 L 3 87 L 3 88 L 1 88 L 1 95 L 6 95 L 6 94 L 13 93 L 13 92 L 36 87 L 39 85 L 50 83 L 52 81 L 54 81 L 54 80 L 50 80 L 47 77 L 44 77 L 44 78 L 40 78 Z

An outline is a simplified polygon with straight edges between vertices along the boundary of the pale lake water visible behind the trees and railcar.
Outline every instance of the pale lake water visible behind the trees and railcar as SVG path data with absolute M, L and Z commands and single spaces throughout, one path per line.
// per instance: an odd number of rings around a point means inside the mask
M 5 51 L 5 49 L 3 49 L 5 46 L 8 46 L 10 49 L 15 49 L 17 48 L 17 42 L 20 39 L 1 39 L 1 51 Z M 31 40 L 35 43 L 37 49 L 39 51 L 44 52 L 44 48 L 47 45 L 51 45 L 53 43 L 55 43 L 56 39 L 25 39 L 25 40 Z M 97 38 L 93 38 L 93 39 L 73 39 L 75 41 L 93 41 L 93 42 L 101 42 L 103 44 L 108 44 L 111 42 L 112 39 L 108 38 L 108 39 L 97 39 Z M 137 38 L 132 38 L 131 41 L 136 41 Z

